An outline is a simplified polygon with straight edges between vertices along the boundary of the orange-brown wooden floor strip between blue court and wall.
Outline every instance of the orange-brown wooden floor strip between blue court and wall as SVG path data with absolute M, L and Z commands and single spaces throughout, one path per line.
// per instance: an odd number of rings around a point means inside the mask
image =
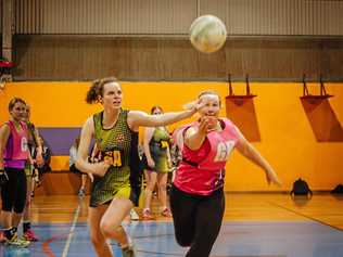
M 78 213 L 78 222 L 87 221 L 89 196 L 36 196 L 33 201 L 34 222 L 71 222 Z M 225 221 L 308 221 L 315 220 L 343 230 L 343 196 L 315 194 L 312 198 L 288 194 L 227 193 Z M 79 207 L 79 208 L 78 208 Z M 156 220 L 170 220 L 158 215 Z M 136 208 L 141 214 L 141 208 Z

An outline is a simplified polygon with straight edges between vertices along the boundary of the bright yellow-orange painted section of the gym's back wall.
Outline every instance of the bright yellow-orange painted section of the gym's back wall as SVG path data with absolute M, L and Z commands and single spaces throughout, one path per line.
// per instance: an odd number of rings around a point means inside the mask
M 88 82 L 12 82 L 0 91 L 0 121 L 8 119 L 8 103 L 14 95 L 25 99 L 33 110 L 31 120 L 37 127 L 80 127 L 100 106 L 85 103 Z M 244 83 L 233 83 L 237 94 L 244 92 Z M 221 82 L 123 82 L 124 107 L 149 112 L 160 104 L 166 112 L 180 110 L 205 89 L 214 89 L 223 97 L 228 93 Z M 313 92 L 317 87 L 309 85 Z M 327 85 L 334 98 L 329 100 L 338 120 L 343 123 L 343 85 Z M 343 142 L 317 142 L 298 99 L 301 83 L 251 83 L 261 142 L 256 149 L 271 163 L 289 190 L 297 177 L 306 179 L 315 190 L 329 190 L 343 183 Z M 225 116 L 225 107 L 221 111 Z M 170 126 L 173 129 L 175 126 Z M 56 156 L 54 169 L 66 169 L 67 157 Z M 227 165 L 226 190 L 265 191 L 259 168 L 244 159 L 238 152 Z

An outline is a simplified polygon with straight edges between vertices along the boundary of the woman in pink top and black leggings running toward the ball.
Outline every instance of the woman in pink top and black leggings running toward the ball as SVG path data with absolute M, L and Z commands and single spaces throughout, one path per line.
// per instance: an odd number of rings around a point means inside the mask
M 176 142 L 182 151 L 170 191 L 175 236 L 190 246 L 186 257 L 207 257 L 220 230 L 224 210 L 225 165 L 236 147 L 262 167 L 268 183 L 280 185 L 271 166 L 227 118 L 219 118 L 220 99 L 213 91 L 199 95 L 205 105 L 201 118 L 178 129 Z

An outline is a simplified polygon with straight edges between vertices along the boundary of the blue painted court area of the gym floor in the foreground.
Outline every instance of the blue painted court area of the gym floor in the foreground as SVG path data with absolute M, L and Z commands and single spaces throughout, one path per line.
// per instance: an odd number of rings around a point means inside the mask
M 185 256 L 177 245 L 170 222 L 131 222 L 125 224 L 132 237 L 137 257 Z M 0 245 L 4 257 L 91 257 L 96 256 L 86 223 L 36 224 L 41 237 L 27 249 Z M 67 244 L 69 239 L 69 244 Z M 120 250 L 112 244 L 116 257 Z M 213 257 L 341 257 L 343 232 L 317 222 L 226 222 L 212 250 Z

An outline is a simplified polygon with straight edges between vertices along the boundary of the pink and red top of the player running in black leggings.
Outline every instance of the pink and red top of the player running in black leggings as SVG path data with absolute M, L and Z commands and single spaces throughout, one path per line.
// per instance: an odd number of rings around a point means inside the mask
M 207 134 L 202 146 L 192 151 L 180 144 L 180 134 L 188 128 L 199 126 L 193 123 L 178 130 L 178 146 L 182 150 L 180 163 L 174 184 L 181 191 L 209 195 L 224 185 L 225 165 L 238 141 L 238 131 L 234 125 L 226 118 L 220 119 L 223 131 L 212 131 Z

